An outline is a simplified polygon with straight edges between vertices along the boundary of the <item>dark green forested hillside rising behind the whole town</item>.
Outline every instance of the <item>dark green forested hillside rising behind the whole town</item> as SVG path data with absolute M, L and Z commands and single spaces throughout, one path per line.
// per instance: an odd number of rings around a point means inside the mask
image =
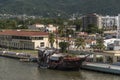
M 120 0 L 0 0 L 0 13 L 68 16 L 73 13 L 117 15 Z

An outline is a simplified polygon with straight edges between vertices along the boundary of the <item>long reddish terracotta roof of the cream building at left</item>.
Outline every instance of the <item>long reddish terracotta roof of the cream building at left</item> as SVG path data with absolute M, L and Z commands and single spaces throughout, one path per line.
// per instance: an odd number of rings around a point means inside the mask
M 14 35 L 14 36 L 47 36 L 46 32 L 39 31 L 20 31 L 20 30 L 3 30 L 0 35 Z

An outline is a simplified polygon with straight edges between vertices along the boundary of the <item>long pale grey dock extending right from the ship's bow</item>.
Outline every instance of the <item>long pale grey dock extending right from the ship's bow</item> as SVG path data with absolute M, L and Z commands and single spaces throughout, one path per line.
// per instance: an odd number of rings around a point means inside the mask
M 91 71 L 120 75 L 120 66 L 117 66 L 117 65 L 86 62 L 85 64 L 83 64 L 81 68 L 91 70 Z

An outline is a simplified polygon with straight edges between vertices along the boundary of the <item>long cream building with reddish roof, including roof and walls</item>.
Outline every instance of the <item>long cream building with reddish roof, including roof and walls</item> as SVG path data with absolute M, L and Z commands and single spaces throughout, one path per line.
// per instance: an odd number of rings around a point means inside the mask
M 0 31 L 0 46 L 17 49 L 50 47 L 48 33 L 38 31 Z

